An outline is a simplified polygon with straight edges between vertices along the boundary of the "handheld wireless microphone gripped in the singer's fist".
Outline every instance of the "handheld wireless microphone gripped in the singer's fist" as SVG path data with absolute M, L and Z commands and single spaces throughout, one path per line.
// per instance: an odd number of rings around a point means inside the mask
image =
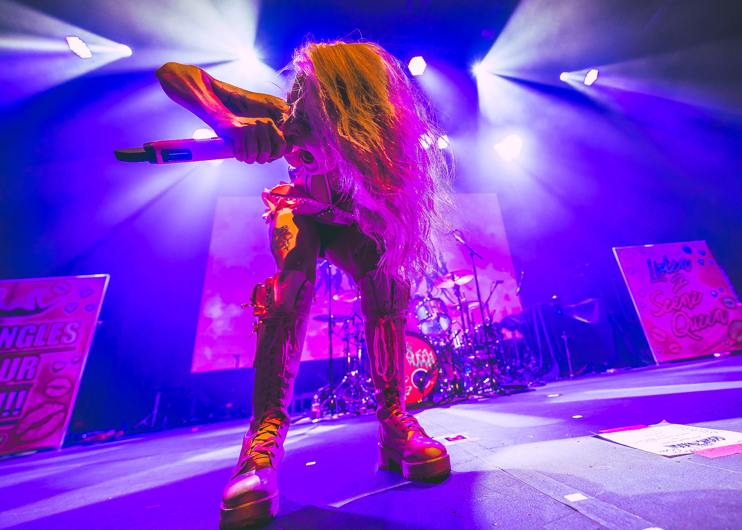
M 291 154 L 294 145 L 286 143 L 286 154 Z M 116 160 L 121 162 L 148 162 L 151 164 L 174 164 L 234 158 L 234 143 L 229 138 L 205 138 L 203 140 L 160 140 L 145 143 L 142 147 L 117 149 Z M 284 155 L 285 156 L 285 155 Z M 278 160 L 275 158 L 269 160 Z

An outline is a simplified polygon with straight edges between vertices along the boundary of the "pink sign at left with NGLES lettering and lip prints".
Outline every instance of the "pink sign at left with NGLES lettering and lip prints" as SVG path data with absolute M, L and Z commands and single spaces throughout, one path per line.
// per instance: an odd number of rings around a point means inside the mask
M 0 281 L 0 454 L 62 446 L 108 278 Z

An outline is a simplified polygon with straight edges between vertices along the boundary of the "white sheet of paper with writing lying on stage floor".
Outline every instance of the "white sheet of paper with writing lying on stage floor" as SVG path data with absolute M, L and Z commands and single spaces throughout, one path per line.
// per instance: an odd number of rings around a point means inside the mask
M 649 453 L 672 457 L 742 443 L 742 433 L 661 422 L 643 429 L 602 433 L 601 438 Z

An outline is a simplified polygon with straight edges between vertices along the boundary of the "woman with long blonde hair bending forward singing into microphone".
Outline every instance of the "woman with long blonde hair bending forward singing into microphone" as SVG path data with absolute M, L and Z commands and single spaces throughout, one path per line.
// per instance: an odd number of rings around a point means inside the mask
M 263 194 L 280 272 L 252 292 L 259 317 L 253 415 L 223 491 L 223 530 L 278 512 L 277 470 L 318 257 L 361 290 L 379 468 L 411 480 L 450 473 L 443 445 L 404 407 L 410 281 L 435 266 L 434 241 L 449 229 L 453 205 L 450 171 L 433 141 L 441 132 L 399 62 L 378 45 L 311 42 L 295 51 L 291 68 L 296 78 L 286 102 L 195 66 L 157 70 L 171 99 L 234 141 L 237 160 L 285 156 L 291 166 L 291 184 Z

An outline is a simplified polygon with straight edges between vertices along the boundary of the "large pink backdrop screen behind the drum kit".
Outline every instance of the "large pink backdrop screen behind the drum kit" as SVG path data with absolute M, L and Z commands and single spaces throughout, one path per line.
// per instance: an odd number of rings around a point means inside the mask
M 520 313 L 521 304 L 516 292 L 516 275 L 510 258 L 508 239 L 502 225 L 495 194 L 459 194 L 462 215 L 456 220 L 464 238 L 482 255 L 476 258 L 482 296 L 487 298 L 493 281 L 500 280 L 488 304 L 488 312 L 497 320 Z M 268 229 L 263 221 L 263 201 L 260 197 L 221 197 L 217 202 L 214 229 L 211 234 L 209 261 L 206 266 L 203 295 L 197 324 L 192 372 L 229 370 L 250 367 L 255 356 L 255 336 L 249 337 L 256 318 L 252 310 L 240 304 L 249 300 L 252 287 L 276 272 L 269 251 Z M 471 269 L 469 255 L 455 240 L 441 251 L 443 270 Z M 303 361 L 327 359 L 329 356 L 326 322 L 315 317 L 328 314 L 327 269 L 318 262 L 316 284 L 317 303 L 309 313 Z M 427 294 L 429 281 L 422 281 L 416 291 Z M 432 287 L 432 286 L 430 286 Z M 338 290 L 355 289 L 352 279 L 332 267 L 332 294 Z M 476 298 L 473 281 L 462 287 L 464 296 Z M 453 304 L 451 289 L 432 287 L 430 295 L 439 296 Z M 449 310 L 450 312 L 453 310 Z M 332 313 L 352 315 L 360 313 L 358 302 L 332 301 Z M 477 321 L 481 317 L 474 312 Z M 340 326 L 335 327 L 336 331 Z M 410 319 L 410 330 L 417 331 L 417 322 Z M 332 353 L 344 354 L 343 343 L 333 336 Z

